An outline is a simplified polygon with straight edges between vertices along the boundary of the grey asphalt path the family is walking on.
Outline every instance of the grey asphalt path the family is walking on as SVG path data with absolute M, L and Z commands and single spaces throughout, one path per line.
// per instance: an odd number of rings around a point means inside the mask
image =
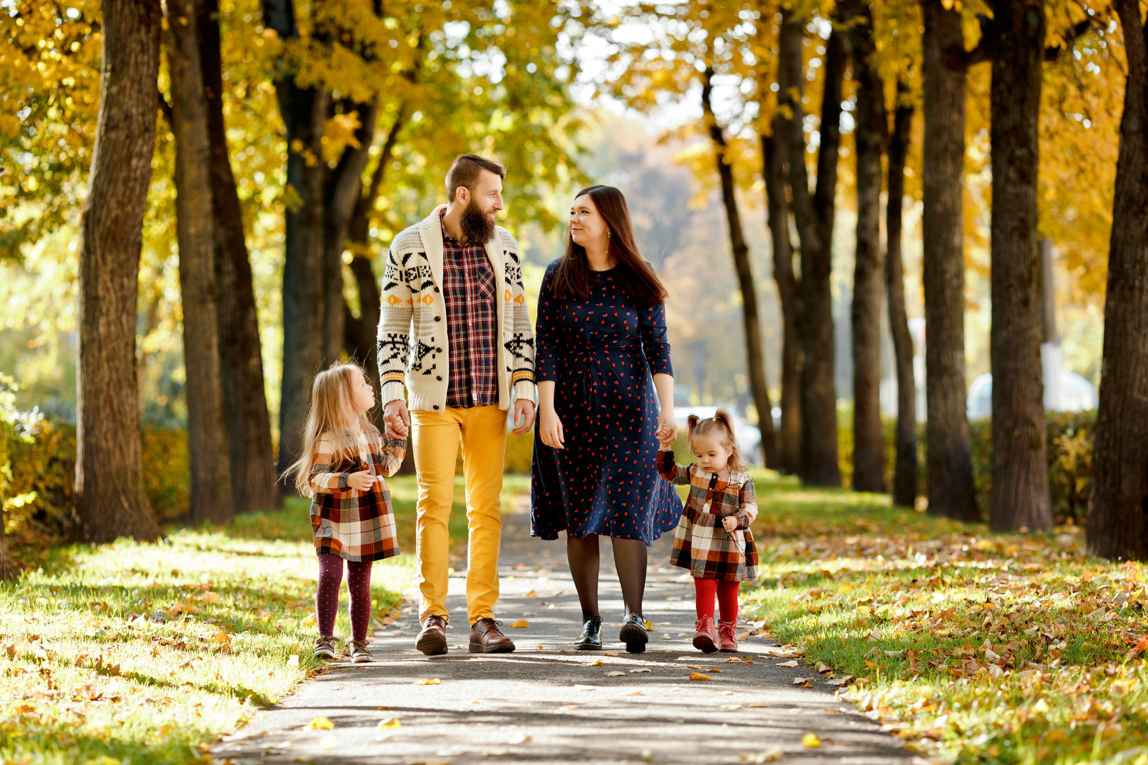
M 450 653 L 414 650 L 418 615 L 405 606 L 377 629 L 377 662 L 329 671 L 211 748 L 218 764 L 460 765 L 491 763 L 906 763 L 899 739 L 837 697 L 827 679 L 771 639 L 737 654 L 691 645 L 693 587 L 668 564 L 669 534 L 650 553 L 644 654 L 616 642 L 621 591 L 603 540 L 604 650 L 575 651 L 581 610 L 565 544 L 530 537 L 529 515 L 506 513 L 497 616 L 512 654 L 471 654 L 465 572 L 451 577 Z M 346 593 L 343 593 L 346 598 Z M 413 590 L 406 593 L 413 601 Z M 343 603 L 346 606 L 346 602 Z M 521 624 L 525 627 L 513 627 Z M 755 632 L 743 624 L 739 634 Z M 612 674 L 612 673 L 621 674 Z M 708 680 L 691 679 L 699 673 Z M 797 678 L 807 682 L 794 684 Z M 317 718 L 333 727 L 312 728 Z M 397 721 L 397 725 L 396 725 Z M 813 734 L 820 746 L 807 734 Z M 920 760 L 918 760 L 920 762 Z

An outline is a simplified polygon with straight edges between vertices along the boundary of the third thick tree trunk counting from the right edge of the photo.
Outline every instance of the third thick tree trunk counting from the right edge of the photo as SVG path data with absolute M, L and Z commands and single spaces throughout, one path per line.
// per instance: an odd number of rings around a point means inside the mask
M 929 513 L 976 521 L 972 455 L 965 416 L 964 251 L 961 189 L 964 165 L 961 14 L 922 0 L 924 163 L 922 213 L 925 292 L 925 444 Z M 951 63 L 953 65 L 951 65 Z

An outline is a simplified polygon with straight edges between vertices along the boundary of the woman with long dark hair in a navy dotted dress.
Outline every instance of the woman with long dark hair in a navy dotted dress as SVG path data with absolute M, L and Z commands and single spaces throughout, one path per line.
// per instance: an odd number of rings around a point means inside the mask
M 622 586 L 619 640 L 641 653 L 646 548 L 682 513 L 656 467 L 659 442 L 668 446 L 677 436 L 665 299 L 634 241 L 622 193 L 579 192 L 566 255 L 546 268 L 538 295 L 530 523 L 543 539 L 566 531 L 582 606 L 575 646 L 583 650 L 602 648 L 598 537 L 611 538 Z

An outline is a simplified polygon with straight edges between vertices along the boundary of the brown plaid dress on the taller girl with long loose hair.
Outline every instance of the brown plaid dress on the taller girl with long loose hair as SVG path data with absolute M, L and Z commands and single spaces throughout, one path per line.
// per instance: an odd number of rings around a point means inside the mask
M 342 438 L 354 458 L 335 461 L 335 436 L 329 432 L 319 438 L 311 458 L 308 481 L 315 490 L 311 499 L 315 551 L 348 561 L 379 561 L 398 555 L 395 513 L 387 484 L 379 481 L 367 491 L 358 491 L 347 485 L 347 478 L 362 470 L 373 476 L 395 475 L 406 453 L 406 439 L 391 439 L 385 447 L 379 429 L 371 424 Z

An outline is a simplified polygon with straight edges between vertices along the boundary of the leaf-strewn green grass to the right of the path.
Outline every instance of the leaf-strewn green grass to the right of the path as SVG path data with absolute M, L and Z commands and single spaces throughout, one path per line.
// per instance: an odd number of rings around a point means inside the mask
M 1142 565 L 1086 556 L 1076 526 L 990 534 L 887 497 L 754 478 L 762 571 L 747 616 L 828 677 L 853 676 L 843 694 L 912 748 L 1148 762 Z

